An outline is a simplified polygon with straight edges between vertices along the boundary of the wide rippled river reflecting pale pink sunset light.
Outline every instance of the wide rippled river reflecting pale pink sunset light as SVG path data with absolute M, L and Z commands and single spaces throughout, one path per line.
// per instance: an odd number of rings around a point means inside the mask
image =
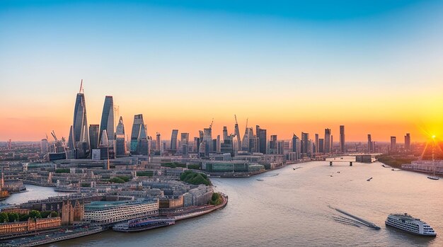
M 313 161 L 252 178 L 212 181 L 229 195 L 228 205 L 217 212 L 166 228 L 132 234 L 105 231 L 50 246 L 443 246 L 443 180 L 425 174 L 391 171 L 381 163 L 330 167 Z M 331 207 L 381 229 L 335 222 L 333 216 L 341 214 Z M 437 237 L 386 228 L 384 220 L 391 212 L 421 218 Z

